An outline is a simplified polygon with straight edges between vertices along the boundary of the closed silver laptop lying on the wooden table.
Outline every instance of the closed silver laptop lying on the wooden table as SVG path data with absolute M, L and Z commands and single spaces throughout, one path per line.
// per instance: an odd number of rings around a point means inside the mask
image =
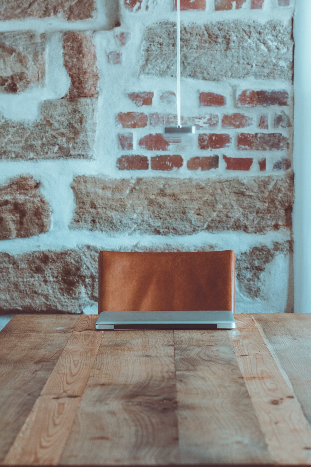
M 96 329 L 234 329 L 232 311 L 102 311 Z

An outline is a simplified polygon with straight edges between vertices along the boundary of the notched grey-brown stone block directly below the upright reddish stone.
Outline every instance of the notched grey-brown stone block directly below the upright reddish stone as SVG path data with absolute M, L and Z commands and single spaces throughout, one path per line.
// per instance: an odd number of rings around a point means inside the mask
M 0 159 L 92 159 L 97 99 L 41 103 L 35 122 L 0 119 Z

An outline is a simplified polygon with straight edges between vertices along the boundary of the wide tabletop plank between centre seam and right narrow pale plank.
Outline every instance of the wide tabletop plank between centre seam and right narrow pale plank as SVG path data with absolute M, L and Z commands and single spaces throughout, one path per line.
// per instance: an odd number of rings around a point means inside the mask
M 228 332 L 174 336 L 182 463 L 270 463 Z

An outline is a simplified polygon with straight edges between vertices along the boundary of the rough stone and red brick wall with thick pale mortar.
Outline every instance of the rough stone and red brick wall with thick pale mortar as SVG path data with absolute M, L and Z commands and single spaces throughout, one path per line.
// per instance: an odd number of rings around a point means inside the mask
M 294 0 L 0 5 L 0 313 L 96 313 L 100 249 L 236 254 L 236 311 L 293 308 Z

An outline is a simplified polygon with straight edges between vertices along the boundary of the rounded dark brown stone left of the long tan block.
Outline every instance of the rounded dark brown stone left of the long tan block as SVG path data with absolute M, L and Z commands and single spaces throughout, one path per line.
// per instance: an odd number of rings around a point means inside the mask
M 19 177 L 0 187 L 0 240 L 48 232 L 50 209 L 33 177 Z

